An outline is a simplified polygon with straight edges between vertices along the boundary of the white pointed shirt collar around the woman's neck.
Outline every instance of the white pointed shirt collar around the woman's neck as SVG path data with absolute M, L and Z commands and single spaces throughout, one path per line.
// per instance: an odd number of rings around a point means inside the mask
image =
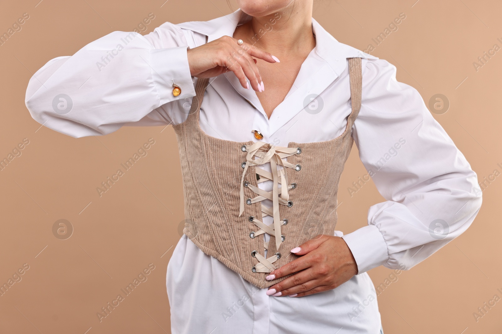
M 207 42 L 211 42 L 222 36 L 232 36 L 238 25 L 246 23 L 251 19 L 251 16 L 242 12 L 239 8 L 233 13 L 216 19 L 184 22 L 178 24 L 178 26 L 207 35 Z M 345 70 L 347 65 L 346 58 L 378 59 L 378 57 L 371 56 L 349 45 L 338 42 L 314 18 L 312 18 L 312 31 L 316 37 L 316 46 L 313 51 L 328 63 L 337 75 L 340 75 Z

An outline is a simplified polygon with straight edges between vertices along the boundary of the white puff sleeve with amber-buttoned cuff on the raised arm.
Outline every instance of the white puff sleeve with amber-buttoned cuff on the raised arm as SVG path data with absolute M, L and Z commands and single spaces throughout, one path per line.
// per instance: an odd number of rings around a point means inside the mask
M 145 36 L 115 31 L 57 57 L 30 79 L 26 106 L 37 122 L 74 138 L 170 124 L 175 101 L 195 96 L 186 33 L 169 22 Z

